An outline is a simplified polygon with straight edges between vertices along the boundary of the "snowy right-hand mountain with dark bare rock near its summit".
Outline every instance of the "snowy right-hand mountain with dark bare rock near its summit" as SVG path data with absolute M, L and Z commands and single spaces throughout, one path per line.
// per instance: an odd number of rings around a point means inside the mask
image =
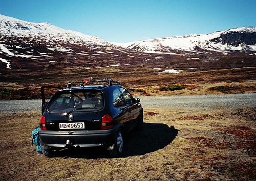
M 144 53 L 254 54 L 256 52 L 256 27 L 236 28 L 201 35 L 155 38 L 116 45 Z

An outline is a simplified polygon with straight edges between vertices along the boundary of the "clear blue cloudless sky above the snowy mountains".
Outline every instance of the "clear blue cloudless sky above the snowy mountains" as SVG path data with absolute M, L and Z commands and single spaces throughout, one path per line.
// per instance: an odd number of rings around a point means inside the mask
M 256 27 L 256 0 L 0 0 L 0 14 L 126 43 Z

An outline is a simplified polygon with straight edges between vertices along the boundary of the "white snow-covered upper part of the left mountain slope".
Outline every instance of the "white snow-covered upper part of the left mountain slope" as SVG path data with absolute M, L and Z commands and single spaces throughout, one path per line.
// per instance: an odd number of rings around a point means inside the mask
M 23 36 L 34 40 L 44 40 L 47 43 L 60 41 L 60 43 L 108 44 L 99 37 L 61 29 L 47 22 L 33 23 L 4 15 L 0 15 L 0 31 L 1 35 L 6 35 L 7 37 L 12 37 L 13 35 Z

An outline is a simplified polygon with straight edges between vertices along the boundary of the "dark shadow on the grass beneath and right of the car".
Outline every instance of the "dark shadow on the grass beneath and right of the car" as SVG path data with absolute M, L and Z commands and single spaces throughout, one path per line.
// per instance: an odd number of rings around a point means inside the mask
M 124 136 L 123 157 L 139 156 L 162 149 L 178 135 L 174 126 L 161 123 L 143 123 L 143 131 L 132 131 Z M 55 157 L 100 159 L 110 158 L 101 147 L 86 149 L 65 149 L 58 151 Z

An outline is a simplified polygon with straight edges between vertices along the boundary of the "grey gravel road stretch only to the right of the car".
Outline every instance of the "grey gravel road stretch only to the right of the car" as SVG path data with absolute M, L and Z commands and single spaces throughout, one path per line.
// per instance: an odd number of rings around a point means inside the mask
M 232 109 L 256 105 L 256 93 L 141 97 L 143 107 Z

